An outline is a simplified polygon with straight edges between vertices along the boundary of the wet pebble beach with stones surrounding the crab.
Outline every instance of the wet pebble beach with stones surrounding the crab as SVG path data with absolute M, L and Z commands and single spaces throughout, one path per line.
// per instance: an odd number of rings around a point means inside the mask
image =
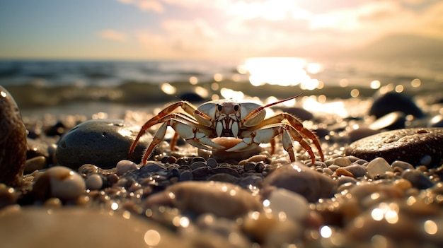
M 195 88 L 182 85 L 181 93 Z M 263 105 L 300 91 L 219 85 Z M 183 139 L 171 150 L 168 130 L 146 165 L 160 125 L 133 158 L 130 145 L 173 95 L 155 88 L 159 98 L 143 105 L 136 94 L 128 105 L 82 103 L 74 113 L 78 102 L 33 110 L 23 85 L 0 88 L 0 246 L 442 247 L 443 95 L 435 85 L 359 88 L 355 97 L 326 87 L 269 108 L 313 131 L 324 161 L 309 138 L 315 163 L 297 142 L 291 162 L 280 137 L 275 153 L 268 143 L 227 153 Z

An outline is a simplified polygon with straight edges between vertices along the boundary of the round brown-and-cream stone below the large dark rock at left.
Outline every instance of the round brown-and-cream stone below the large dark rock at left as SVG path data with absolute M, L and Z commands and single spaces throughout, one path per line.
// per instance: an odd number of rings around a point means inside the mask
M 77 199 L 85 189 L 85 181 L 77 172 L 68 167 L 54 166 L 36 179 L 33 194 L 40 201 L 50 197 L 69 201 Z

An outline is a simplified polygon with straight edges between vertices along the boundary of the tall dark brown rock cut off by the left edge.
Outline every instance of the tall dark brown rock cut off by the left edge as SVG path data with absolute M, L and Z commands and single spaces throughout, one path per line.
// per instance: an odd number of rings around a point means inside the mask
M 0 86 L 0 183 L 21 184 L 26 161 L 26 135 L 16 101 Z

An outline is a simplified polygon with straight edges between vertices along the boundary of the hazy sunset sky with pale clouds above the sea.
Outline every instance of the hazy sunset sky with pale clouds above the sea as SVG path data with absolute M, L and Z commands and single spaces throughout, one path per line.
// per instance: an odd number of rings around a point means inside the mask
M 399 33 L 443 39 L 443 1 L 0 0 L 0 59 L 304 56 Z

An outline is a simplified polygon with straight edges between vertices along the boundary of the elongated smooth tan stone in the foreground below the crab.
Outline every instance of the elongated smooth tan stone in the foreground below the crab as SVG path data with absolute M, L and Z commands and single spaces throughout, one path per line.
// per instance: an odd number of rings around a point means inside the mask
M 226 182 L 178 182 L 165 191 L 150 196 L 145 207 L 169 202 L 180 211 L 212 213 L 219 217 L 236 218 L 249 211 L 258 211 L 261 204 L 254 196 L 235 184 Z

